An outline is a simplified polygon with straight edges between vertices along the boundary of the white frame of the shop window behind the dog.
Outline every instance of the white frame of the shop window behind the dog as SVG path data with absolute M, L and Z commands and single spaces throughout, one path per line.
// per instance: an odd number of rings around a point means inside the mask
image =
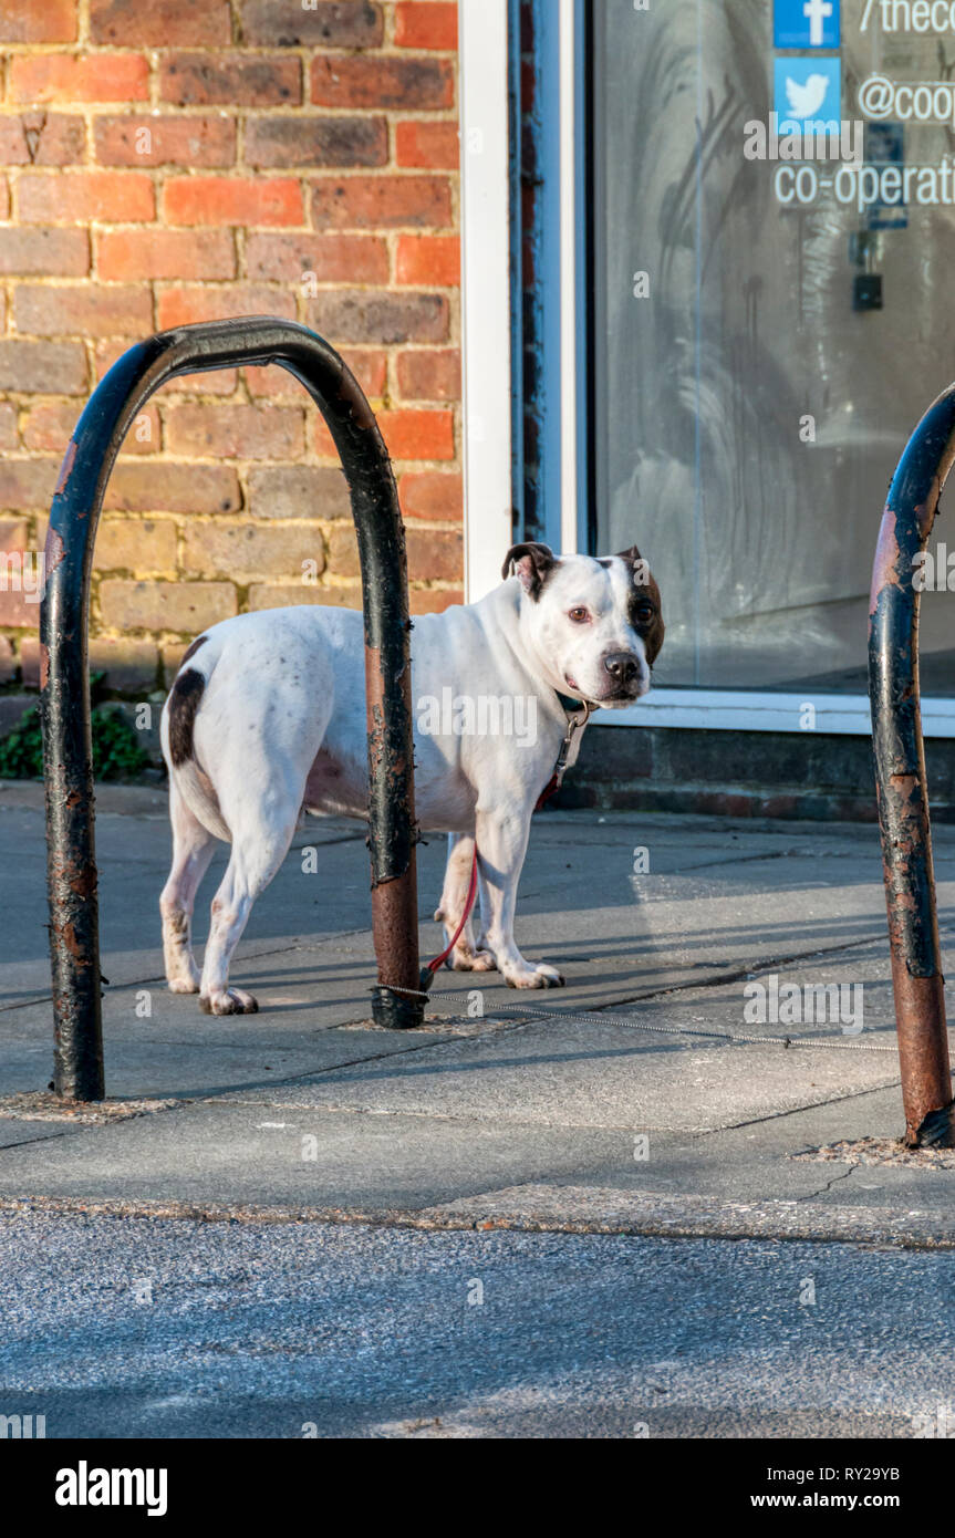
M 560 535 L 564 554 L 580 549 L 583 417 L 577 358 L 581 346 L 580 5 L 560 8 Z M 461 100 L 461 343 L 464 458 L 464 598 L 500 581 L 512 537 L 511 480 L 511 285 L 507 146 L 507 0 L 458 0 Z M 557 275 L 555 275 L 557 277 Z M 872 551 L 878 534 L 872 524 Z M 652 689 L 638 706 L 601 712 L 601 726 L 669 726 L 695 731 L 800 732 L 804 706 L 815 731 L 867 737 L 864 694 L 758 689 Z M 955 700 L 921 701 L 926 737 L 955 737 Z

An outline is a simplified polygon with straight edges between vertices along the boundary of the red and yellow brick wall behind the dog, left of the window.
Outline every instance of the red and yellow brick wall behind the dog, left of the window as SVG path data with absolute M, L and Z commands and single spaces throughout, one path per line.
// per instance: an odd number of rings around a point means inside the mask
M 338 346 L 378 414 L 412 611 L 460 601 L 455 46 L 454 0 L 0 0 L 0 551 L 43 548 L 69 434 L 131 341 L 266 312 Z M 337 457 L 281 369 L 160 391 L 105 508 L 109 687 L 168 683 L 237 611 L 360 604 Z M 35 686 L 37 604 L 6 568 L 0 684 Z

